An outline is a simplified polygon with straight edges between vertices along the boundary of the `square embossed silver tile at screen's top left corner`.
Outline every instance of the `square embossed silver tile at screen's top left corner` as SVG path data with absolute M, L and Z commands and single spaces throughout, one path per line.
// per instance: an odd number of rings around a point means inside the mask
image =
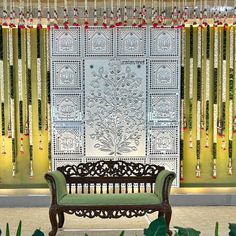
M 51 42 L 52 56 L 79 56 L 80 38 L 80 28 L 70 28 L 68 30 L 53 28 Z

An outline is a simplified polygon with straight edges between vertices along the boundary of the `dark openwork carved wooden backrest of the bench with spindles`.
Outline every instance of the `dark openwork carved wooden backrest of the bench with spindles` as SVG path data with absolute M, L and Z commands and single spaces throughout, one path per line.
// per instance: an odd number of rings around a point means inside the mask
M 124 162 L 98 161 L 58 167 L 71 193 L 153 192 L 162 166 Z

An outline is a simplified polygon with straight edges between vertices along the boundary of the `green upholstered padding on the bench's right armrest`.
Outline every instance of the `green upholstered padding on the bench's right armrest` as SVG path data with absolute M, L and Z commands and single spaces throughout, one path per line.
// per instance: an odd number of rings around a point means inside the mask
M 168 194 L 170 195 L 171 185 L 176 176 L 175 172 L 169 170 L 162 170 L 156 178 L 154 193 L 160 198 L 161 202 L 163 201 L 163 186 L 165 179 L 166 177 L 172 174 L 174 175 L 174 178 L 170 180 L 168 185 Z

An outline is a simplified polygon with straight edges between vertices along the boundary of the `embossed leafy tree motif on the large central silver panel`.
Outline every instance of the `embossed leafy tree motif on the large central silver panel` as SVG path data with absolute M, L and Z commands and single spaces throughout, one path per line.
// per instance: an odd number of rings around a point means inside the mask
M 141 81 L 128 65 L 109 62 L 108 71 L 100 67 L 92 72 L 91 91 L 87 96 L 87 124 L 96 140 L 94 148 L 108 155 L 136 151 L 144 130 L 145 98 Z

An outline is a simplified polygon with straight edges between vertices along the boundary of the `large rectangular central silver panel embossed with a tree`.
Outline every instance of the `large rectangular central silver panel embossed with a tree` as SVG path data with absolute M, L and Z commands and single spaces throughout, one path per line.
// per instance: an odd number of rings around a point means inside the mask
M 146 60 L 86 60 L 86 155 L 145 155 Z

